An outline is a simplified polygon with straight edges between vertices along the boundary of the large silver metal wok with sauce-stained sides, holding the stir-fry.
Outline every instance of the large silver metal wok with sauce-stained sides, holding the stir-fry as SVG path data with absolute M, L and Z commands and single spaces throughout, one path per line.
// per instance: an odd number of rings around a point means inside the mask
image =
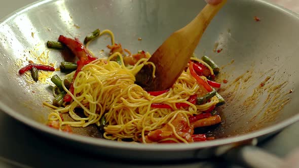
M 218 81 L 228 80 L 220 90 L 227 100 L 219 109 L 222 122 L 207 133 L 216 140 L 192 144 L 121 143 L 99 138 L 95 127 L 73 129 L 74 134 L 66 134 L 45 125 L 50 109 L 43 102 L 53 99 L 49 76 L 59 72 L 45 72 L 41 81 L 33 82 L 28 76 L 20 76 L 18 70 L 28 60 L 58 66 L 62 54 L 49 51 L 47 40 L 57 40 L 60 34 L 83 40 L 96 28 L 110 29 L 125 48 L 153 53 L 204 5 L 198 0 L 49 0 L 18 10 L 0 24 L 1 109 L 73 148 L 141 160 L 211 157 L 221 148 L 257 137 L 261 140 L 299 120 L 299 17 L 266 1 L 232 0 L 212 20 L 195 51 L 198 57 L 208 55 L 221 66 Z M 108 36 L 103 36 L 91 44 L 91 50 L 104 57 L 101 50 L 109 43 Z

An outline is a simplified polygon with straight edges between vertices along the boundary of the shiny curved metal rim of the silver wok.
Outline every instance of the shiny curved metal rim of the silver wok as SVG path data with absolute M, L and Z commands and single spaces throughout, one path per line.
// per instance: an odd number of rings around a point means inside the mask
M 0 26 L 6 24 L 10 21 L 11 18 L 26 12 L 34 7 L 38 7 L 50 2 L 59 1 L 59 0 L 40 0 L 38 2 L 31 3 L 23 8 L 16 10 L 15 12 L 9 14 L 8 16 L 0 19 Z M 267 0 L 255 0 L 257 3 L 261 3 L 271 8 L 276 8 L 276 10 L 280 10 L 289 15 L 289 17 L 294 17 L 299 21 L 299 15 L 295 12 L 292 12 L 284 7 L 281 7 L 277 4 L 273 4 Z M 263 128 L 258 131 L 253 131 L 250 133 L 245 133 L 242 135 L 228 137 L 228 138 L 220 138 L 215 139 L 213 141 L 205 141 L 205 142 L 198 142 L 198 143 L 190 143 L 190 144 L 142 144 L 142 143 L 125 143 L 125 142 L 118 142 L 118 141 L 111 141 L 106 139 L 100 138 L 93 138 L 88 136 L 76 135 L 76 134 L 66 134 L 65 132 L 57 131 L 55 129 L 49 128 L 47 125 L 42 124 L 38 121 L 30 119 L 28 117 L 24 117 L 22 114 L 15 112 L 13 109 L 8 107 L 6 104 L 0 101 L 0 109 L 3 110 L 8 115 L 12 116 L 13 118 L 21 121 L 22 123 L 28 125 L 29 127 L 39 130 L 43 133 L 47 133 L 58 138 L 63 138 L 69 141 L 76 141 L 79 143 L 94 145 L 94 146 L 102 146 L 108 148 L 115 148 L 115 149 L 125 149 L 125 150 L 146 150 L 146 151 L 180 151 L 180 150 L 196 150 L 196 149 L 203 149 L 203 148 L 210 148 L 215 146 L 227 145 L 232 143 L 237 143 L 245 140 L 250 140 L 256 137 L 264 136 L 267 134 L 274 133 L 279 131 L 292 123 L 299 121 L 299 113 L 292 116 L 291 118 L 285 119 L 279 123 L 276 123 L 270 127 Z

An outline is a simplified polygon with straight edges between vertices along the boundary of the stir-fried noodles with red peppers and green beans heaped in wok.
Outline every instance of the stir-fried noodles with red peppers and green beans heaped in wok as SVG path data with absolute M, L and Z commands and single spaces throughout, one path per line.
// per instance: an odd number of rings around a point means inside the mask
M 89 43 L 104 33 L 110 34 L 112 43 L 107 46 L 110 54 L 106 59 L 88 50 Z M 109 30 L 95 30 L 84 43 L 63 35 L 58 42 L 47 43 L 49 48 L 68 48 L 78 58 L 76 63 L 61 62 L 60 70 L 70 72 L 63 79 L 58 75 L 51 78 L 55 98 L 52 104 L 44 103 L 53 108 L 50 127 L 71 132 L 71 127 L 96 124 L 105 139 L 142 143 L 213 139 L 194 134 L 195 128 L 221 122 L 215 107 L 225 100 L 216 91 L 220 83 L 212 81 L 219 68 L 210 58 L 192 57 L 171 88 L 147 92 L 135 83 L 135 75 L 148 64 L 153 66 L 155 77 L 155 65 L 147 61 L 149 53 L 138 51 L 132 55 L 115 43 Z M 65 121 L 62 113 L 68 113 L 73 120 Z

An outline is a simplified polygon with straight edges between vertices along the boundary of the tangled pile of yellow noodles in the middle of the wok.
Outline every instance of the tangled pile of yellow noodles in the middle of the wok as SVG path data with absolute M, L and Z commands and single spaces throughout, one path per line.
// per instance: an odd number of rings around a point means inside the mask
M 170 123 L 178 113 L 183 114 L 188 120 L 193 114 L 200 114 L 218 103 L 215 96 L 203 105 L 187 101 L 192 95 L 203 96 L 207 93 L 190 74 L 189 68 L 182 72 L 169 92 L 151 96 L 134 83 L 135 74 L 148 63 L 147 59 L 140 59 L 134 66 L 126 67 L 122 57 L 121 65 L 111 61 L 118 56 L 121 54 L 115 53 L 108 59 L 97 59 L 85 65 L 73 82 L 73 94 L 63 85 L 73 100 L 65 107 L 54 107 L 56 109 L 49 115 L 49 120 L 58 120 L 60 126 L 69 124 L 71 127 L 84 128 L 90 124 L 99 126 L 99 120 L 104 115 L 107 123 L 104 127 L 104 138 L 118 141 L 129 138 L 135 142 L 145 143 L 148 132 Z M 202 60 L 197 58 L 192 60 L 205 64 L 211 70 Z M 211 72 L 213 73 L 212 70 Z M 65 78 L 72 78 L 73 75 L 74 72 L 69 73 Z M 206 80 L 206 77 L 201 77 Z M 172 109 L 152 108 L 152 103 L 167 104 Z M 186 103 L 190 106 L 178 109 L 176 103 Z M 85 117 L 76 114 L 74 109 L 78 107 L 84 110 Z M 69 113 L 74 121 L 63 121 L 59 113 Z M 181 141 L 186 142 L 183 139 Z

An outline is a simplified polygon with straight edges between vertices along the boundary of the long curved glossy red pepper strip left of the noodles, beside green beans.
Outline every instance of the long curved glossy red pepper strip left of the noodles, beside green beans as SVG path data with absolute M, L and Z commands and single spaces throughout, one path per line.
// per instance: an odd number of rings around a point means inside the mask
M 58 41 L 64 45 L 66 45 L 74 55 L 76 55 L 79 58 L 79 61 L 77 62 L 77 70 L 73 76 L 73 80 L 71 82 L 71 86 L 69 88 L 69 91 L 73 94 L 73 81 L 76 79 L 78 73 L 81 71 L 82 67 L 91 61 L 95 60 L 88 50 L 84 47 L 84 45 L 80 42 L 78 38 L 71 39 L 68 37 L 65 37 L 63 35 L 60 35 L 58 38 Z M 71 97 L 69 94 L 66 94 L 63 98 L 65 102 L 70 102 Z

